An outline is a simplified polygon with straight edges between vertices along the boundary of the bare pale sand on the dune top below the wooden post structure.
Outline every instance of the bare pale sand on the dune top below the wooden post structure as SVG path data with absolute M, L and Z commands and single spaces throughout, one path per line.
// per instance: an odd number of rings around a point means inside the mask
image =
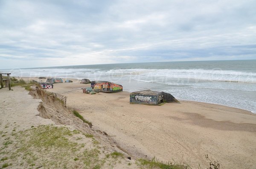
M 37 108 L 41 100 L 33 99 L 22 87 L 0 90 L 0 124 L 8 126 L 5 131 L 10 133 L 15 127 L 16 131 L 30 129 L 31 126 L 54 124 L 52 120 L 39 116 Z M 3 129 L 3 128 L 2 128 Z M 1 130 L 2 130 L 1 129 Z

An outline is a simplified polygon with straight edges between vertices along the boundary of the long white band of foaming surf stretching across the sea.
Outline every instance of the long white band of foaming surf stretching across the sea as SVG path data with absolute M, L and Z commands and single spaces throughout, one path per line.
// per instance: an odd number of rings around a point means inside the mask
M 133 79 L 141 80 L 141 77 L 156 79 L 158 77 L 176 79 L 194 79 L 210 81 L 227 81 L 240 83 L 256 83 L 256 73 L 238 72 L 227 70 L 206 69 L 12 69 L 13 76 L 36 77 L 36 76 L 72 76 L 98 74 L 108 75 L 131 75 Z

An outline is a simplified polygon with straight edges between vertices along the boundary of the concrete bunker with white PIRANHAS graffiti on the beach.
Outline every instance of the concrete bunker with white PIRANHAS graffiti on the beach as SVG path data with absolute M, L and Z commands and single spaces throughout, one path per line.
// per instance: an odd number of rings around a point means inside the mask
M 130 94 L 131 104 L 150 104 L 159 105 L 161 103 L 178 102 L 175 97 L 166 92 L 155 92 L 151 90 L 143 90 L 132 92 Z

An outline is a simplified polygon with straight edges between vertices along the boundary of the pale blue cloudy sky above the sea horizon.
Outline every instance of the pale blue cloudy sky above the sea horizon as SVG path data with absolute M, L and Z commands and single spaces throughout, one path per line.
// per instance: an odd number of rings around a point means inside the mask
M 0 69 L 256 59 L 256 0 L 0 0 Z

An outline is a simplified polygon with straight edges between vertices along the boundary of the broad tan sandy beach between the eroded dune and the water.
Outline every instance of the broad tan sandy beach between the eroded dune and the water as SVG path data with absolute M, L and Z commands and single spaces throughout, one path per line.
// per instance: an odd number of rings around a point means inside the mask
M 256 115 L 227 106 L 192 101 L 163 106 L 129 104 L 129 93 L 84 94 L 90 84 L 54 84 L 78 110 L 133 157 L 154 157 L 206 167 L 204 155 L 225 169 L 256 168 Z

